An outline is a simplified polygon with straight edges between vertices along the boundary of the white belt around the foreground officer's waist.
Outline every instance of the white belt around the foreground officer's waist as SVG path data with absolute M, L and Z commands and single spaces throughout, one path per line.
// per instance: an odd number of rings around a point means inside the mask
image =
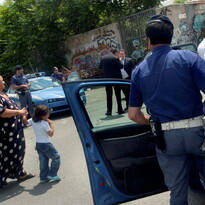
M 184 120 L 161 123 L 162 130 L 174 130 L 204 126 L 203 115 Z

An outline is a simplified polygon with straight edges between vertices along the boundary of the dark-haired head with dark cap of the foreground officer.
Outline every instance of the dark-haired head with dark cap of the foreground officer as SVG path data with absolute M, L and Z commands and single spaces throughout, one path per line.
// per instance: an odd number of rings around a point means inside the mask
M 152 45 L 171 44 L 173 31 L 174 26 L 168 17 L 155 15 L 148 21 L 145 33 Z

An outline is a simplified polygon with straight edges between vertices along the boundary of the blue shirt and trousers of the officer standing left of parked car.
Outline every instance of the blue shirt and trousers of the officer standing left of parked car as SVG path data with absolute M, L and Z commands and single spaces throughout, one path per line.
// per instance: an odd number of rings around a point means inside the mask
M 28 84 L 28 79 L 26 78 L 25 75 L 14 75 L 11 78 L 11 84 L 14 85 L 26 85 Z M 28 108 L 29 114 L 32 115 L 33 114 L 33 104 L 32 104 L 32 97 L 31 97 L 31 93 L 29 90 L 25 90 L 24 88 L 20 88 L 17 91 L 17 94 L 19 96 L 19 101 L 21 104 L 21 108 Z

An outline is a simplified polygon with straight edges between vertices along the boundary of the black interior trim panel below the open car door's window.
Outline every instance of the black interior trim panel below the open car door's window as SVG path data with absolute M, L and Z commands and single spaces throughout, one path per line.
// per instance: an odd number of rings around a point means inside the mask
M 116 185 L 124 193 L 167 190 L 148 126 L 135 124 L 127 129 L 126 126 L 106 129 L 95 132 L 94 137 Z

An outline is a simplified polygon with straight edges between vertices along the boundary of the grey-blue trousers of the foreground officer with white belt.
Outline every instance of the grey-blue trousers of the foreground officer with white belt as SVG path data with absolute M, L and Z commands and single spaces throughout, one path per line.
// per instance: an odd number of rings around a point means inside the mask
M 203 127 L 165 131 L 166 152 L 157 151 L 157 158 L 164 173 L 165 183 L 171 191 L 170 205 L 188 205 L 188 185 L 192 158 L 200 165 L 205 176 L 205 153 L 200 146 L 205 139 Z M 192 157 L 191 157 L 192 156 Z

